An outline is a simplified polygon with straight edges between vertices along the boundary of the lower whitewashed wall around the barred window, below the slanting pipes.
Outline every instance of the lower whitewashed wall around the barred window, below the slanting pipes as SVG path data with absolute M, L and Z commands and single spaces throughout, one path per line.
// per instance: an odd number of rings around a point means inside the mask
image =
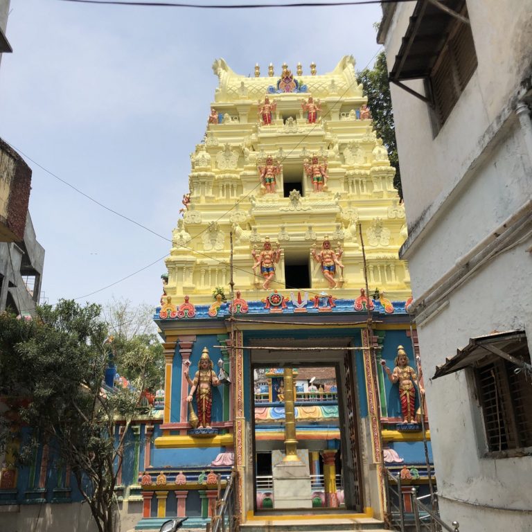
M 449 305 L 436 319 L 418 328 L 426 377 L 432 377 L 436 364 L 456 354 L 456 348 L 466 346 L 471 337 L 492 330 L 532 330 L 529 304 L 532 261 L 524 248 L 517 246 L 495 258 L 489 267 L 481 269 L 450 296 Z M 528 339 L 532 351 L 532 335 Z M 443 497 L 486 507 L 529 510 L 528 519 L 532 523 L 532 495 L 526 488 L 530 486 L 532 456 L 496 460 L 482 456 L 486 445 L 484 427 L 470 384 L 465 370 L 437 380 L 425 378 L 438 492 Z M 478 512 L 475 506 L 446 505 L 444 498 L 443 515 L 461 524 L 463 516 Z M 457 508 L 461 508 L 460 515 Z M 515 526 L 511 526 L 514 518 Z M 490 528 L 483 530 L 529 530 L 518 524 L 522 522 L 518 513 L 508 513 L 505 519 L 505 528 L 497 528 L 492 522 Z

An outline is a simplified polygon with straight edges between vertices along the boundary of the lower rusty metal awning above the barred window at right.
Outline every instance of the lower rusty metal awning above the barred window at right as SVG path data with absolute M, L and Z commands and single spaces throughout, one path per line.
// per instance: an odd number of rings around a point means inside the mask
M 486 336 L 471 338 L 469 344 L 463 349 L 459 349 L 456 355 L 448 358 L 445 364 L 436 366 L 434 379 L 449 375 L 468 366 L 486 364 L 493 357 L 501 357 L 516 366 L 532 370 L 531 364 L 524 362 L 520 358 L 514 357 L 513 353 L 526 345 L 526 334 L 524 330 L 508 330 L 505 332 L 492 332 Z

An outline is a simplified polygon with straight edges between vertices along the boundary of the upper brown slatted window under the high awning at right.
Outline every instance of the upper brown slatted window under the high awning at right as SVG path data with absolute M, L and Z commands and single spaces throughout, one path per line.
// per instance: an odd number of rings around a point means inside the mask
M 465 2 L 461 15 L 468 17 Z M 445 44 L 430 76 L 439 125 L 447 120 L 476 69 L 477 53 L 471 26 L 459 19 L 452 19 Z

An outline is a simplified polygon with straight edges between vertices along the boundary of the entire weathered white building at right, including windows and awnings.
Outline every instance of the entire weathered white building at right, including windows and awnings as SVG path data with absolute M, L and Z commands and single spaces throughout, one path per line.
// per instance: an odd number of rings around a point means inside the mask
M 532 2 L 382 9 L 441 514 L 530 531 Z

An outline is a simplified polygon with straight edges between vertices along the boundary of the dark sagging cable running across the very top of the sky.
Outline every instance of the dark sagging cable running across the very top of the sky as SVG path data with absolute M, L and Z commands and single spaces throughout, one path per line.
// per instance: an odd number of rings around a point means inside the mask
M 373 3 L 406 3 L 417 0 L 357 0 L 333 2 L 291 2 L 291 3 L 184 3 L 184 2 L 145 2 L 132 0 L 60 0 L 72 3 L 94 3 L 109 6 L 139 6 L 143 8 L 191 8 L 191 9 L 267 9 L 267 8 L 337 8 L 349 6 L 366 6 Z

